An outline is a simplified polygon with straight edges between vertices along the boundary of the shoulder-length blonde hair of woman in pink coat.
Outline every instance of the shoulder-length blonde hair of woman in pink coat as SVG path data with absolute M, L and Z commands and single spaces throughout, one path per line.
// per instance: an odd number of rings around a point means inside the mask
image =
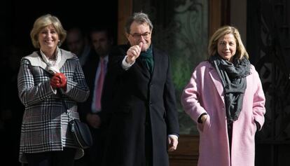
M 226 34 L 233 34 L 235 37 L 235 41 L 237 43 L 235 57 L 239 60 L 242 59 L 242 57 L 247 57 L 247 59 L 249 59 L 249 55 L 246 48 L 244 48 L 239 31 L 237 28 L 230 27 L 228 25 L 219 28 L 216 32 L 214 32 L 211 39 L 209 39 L 209 46 L 207 48 L 209 56 L 216 54 L 218 41 L 221 37 L 226 36 Z

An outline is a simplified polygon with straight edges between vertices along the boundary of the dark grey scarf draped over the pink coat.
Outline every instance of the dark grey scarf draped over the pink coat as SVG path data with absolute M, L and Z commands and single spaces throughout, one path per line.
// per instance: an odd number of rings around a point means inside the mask
M 209 62 L 214 66 L 221 82 L 226 103 L 226 118 L 228 123 L 233 123 L 240 116 L 244 91 L 247 88 L 246 77 L 250 74 L 250 62 L 246 57 L 234 62 L 223 60 L 219 55 L 209 57 Z

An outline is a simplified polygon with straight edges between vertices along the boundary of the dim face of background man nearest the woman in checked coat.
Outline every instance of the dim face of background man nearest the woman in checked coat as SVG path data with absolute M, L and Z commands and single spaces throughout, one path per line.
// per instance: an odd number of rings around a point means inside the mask
M 71 53 L 75 53 L 77 56 L 83 53 L 85 48 L 85 41 L 83 40 L 81 34 L 78 32 L 71 32 L 67 34 L 67 48 Z

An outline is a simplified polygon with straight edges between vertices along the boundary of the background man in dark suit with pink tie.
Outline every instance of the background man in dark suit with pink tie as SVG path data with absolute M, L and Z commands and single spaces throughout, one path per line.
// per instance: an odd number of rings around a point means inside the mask
M 90 126 L 94 141 L 93 146 L 88 149 L 87 153 L 87 156 L 90 157 L 89 165 L 101 165 L 106 124 L 102 122 L 102 106 L 99 106 L 98 99 L 100 99 L 100 95 L 102 94 L 102 90 L 100 90 L 102 89 L 102 81 L 104 81 L 102 76 L 106 74 L 106 62 L 108 61 L 108 55 L 113 45 L 113 39 L 109 29 L 106 27 L 98 27 L 91 30 L 90 41 L 95 51 L 91 51 L 92 55 L 90 55 L 86 64 L 83 66 L 85 80 L 90 88 L 90 96 L 87 102 L 81 105 L 80 110 L 83 113 L 83 119 Z M 96 82 L 97 85 L 95 85 Z M 95 106 L 92 106 L 92 104 Z

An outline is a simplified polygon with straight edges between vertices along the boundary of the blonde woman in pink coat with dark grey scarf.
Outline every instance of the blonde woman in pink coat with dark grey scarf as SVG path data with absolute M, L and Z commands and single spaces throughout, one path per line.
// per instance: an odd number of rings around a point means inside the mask
M 181 96 L 200 132 L 198 165 L 254 166 L 255 132 L 265 114 L 260 78 L 235 27 L 218 29 L 208 51 Z

